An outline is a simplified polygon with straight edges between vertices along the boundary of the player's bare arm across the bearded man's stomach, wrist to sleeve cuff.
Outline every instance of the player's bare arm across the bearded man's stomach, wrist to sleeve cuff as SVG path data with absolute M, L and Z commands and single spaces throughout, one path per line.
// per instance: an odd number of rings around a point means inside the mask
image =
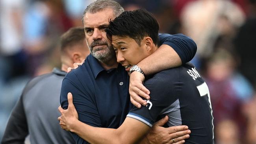
M 77 120 L 72 122 L 70 131 L 91 144 L 134 144 L 147 133 L 149 128 L 143 122 L 126 118 L 118 129 L 93 127 Z

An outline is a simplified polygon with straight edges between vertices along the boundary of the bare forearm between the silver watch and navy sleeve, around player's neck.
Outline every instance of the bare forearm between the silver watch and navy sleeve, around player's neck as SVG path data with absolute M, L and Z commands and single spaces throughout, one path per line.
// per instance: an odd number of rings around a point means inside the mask
M 137 64 L 145 75 L 154 74 L 168 68 L 182 65 L 179 55 L 170 46 L 163 44 L 156 52 Z

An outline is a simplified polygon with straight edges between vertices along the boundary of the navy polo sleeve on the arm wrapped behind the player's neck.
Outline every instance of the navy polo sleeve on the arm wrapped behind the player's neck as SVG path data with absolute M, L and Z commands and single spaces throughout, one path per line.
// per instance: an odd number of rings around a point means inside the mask
M 160 38 L 160 45 L 167 44 L 171 46 L 180 56 L 182 63 L 187 63 L 193 59 L 197 52 L 197 44 L 193 39 L 183 34 L 158 34 Z

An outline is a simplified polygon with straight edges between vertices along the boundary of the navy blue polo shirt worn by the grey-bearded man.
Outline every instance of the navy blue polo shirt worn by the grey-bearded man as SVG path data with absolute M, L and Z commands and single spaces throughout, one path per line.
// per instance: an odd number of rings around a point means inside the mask
M 195 55 L 197 47 L 189 37 L 182 34 L 160 34 L 159 37 L 160 44 L 171 46 L 183 63 Z M 133 107 L 128 89 L 129 76 L 123 66 L 105 70 L 95 57 L 89 55 L 82 66 L 63 79 L 61 107 L 67 109 L 67 94 L 71 92 L 81 122 L 95 127 L 118 128 Z M 73 137 L 76 143 L 86 143 L 74 133 Z

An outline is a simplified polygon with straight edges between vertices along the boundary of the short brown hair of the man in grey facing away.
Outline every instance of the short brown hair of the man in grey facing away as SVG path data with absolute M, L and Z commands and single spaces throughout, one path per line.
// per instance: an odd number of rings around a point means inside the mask
M 83 42 L 84 40 L 85 33 L 83 27 L 70 28 L 60 37 L 61 53 L 65 53 L 67 47 L 73 46 L 79 42 Z

